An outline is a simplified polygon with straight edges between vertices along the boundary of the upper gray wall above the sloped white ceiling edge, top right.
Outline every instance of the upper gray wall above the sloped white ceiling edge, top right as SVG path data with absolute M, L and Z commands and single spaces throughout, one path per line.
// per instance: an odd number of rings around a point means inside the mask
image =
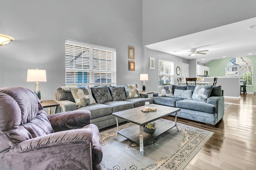
M 143 45 L 254 18 L 255 6 L 256 0 L 143 0 Z

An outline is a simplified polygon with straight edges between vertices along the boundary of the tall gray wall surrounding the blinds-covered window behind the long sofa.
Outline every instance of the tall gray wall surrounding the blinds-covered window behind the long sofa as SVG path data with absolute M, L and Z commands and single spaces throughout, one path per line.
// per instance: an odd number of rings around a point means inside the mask
M 65 39 L 115 48 L 117 84 L 142 85 L 142 0 L 0 0 L 0 11 L 0 33 L 15 39 L 0 47 L 0 87 L 34 91 L 27 69 L 46 69 L 42 100 L 54 99 L 65 85 Z M 135 48 L 135 71 L 128 70 L 128 45 Z

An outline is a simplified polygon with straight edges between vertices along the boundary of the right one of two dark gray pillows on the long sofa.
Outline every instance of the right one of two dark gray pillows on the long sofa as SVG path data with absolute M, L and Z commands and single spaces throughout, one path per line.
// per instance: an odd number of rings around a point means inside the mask
M 113 98 L 108 90 L 107 85 L 98 86 L 98 87 L 91 87 L 92 94 L 96 100 L 96 102 L 99 104 L 103 104 L 109 101 L 113 101 Z

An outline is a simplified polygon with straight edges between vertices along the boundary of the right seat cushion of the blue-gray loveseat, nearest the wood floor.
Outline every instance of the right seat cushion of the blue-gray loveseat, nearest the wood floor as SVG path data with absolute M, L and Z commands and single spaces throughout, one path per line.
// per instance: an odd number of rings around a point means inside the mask
M 213 104 L 207 104 L 198 100 L 183 99 L 176 102 L 176 107 L 183 109 L 190 109 L 196 111 L 202 111 L 206 113 L 216 113 L 217 107 Z

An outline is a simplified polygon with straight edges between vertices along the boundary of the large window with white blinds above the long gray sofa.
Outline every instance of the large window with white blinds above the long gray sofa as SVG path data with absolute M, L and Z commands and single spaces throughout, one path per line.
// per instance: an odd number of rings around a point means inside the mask
M 67 40 L 66 86 L 115 85 L 116 49 Z

